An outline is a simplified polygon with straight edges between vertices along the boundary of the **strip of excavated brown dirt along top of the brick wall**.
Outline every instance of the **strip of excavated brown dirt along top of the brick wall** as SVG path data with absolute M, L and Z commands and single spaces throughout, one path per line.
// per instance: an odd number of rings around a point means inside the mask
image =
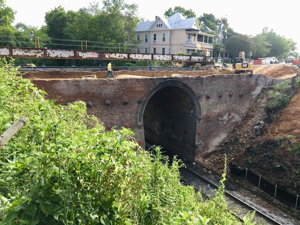
M 127 76 L 120 76 L 120 75 L 132 75 L 135 77 L 161 77 L 161 76 L 171 76 L 173 73 L 181 74 L 185 76 L 205 76 L 205 75 L 212 75 L 212 74 L 232 74 L 232 69 L 225 68 L 225 67 L 216 67 L 211 68 L 208 67 L 205 70 L 197 70 L 197 71 L 179 71 L 179 70 L 162 70 L 162 71 L 129 71 L 129 70 L 120 70 L 113 72 L 115 77 L 127 77 Z M 82 76 L 87 75 L 96 75 L 99 79 L 104 79 L 107 77 L 107 71 L 67 71 L 62 72 L 60 70 L 53 70 L 53 71 L 37 71 L 37 72 L 26 72 L 23 74 L 24 78 L 38 78 L 38 79 L 76 79 L 81 78 Z

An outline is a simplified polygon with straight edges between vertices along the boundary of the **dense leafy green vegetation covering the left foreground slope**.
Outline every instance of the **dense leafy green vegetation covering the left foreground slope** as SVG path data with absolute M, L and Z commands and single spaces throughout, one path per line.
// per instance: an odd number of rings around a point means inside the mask
M 105 132 L 85 103 L 55 105 L 0 63 L 0 133 L 29 119 L 1 149 L 1 224 L 241 224 L 226 210 L 225 173 L 205 200 L 180 183 L 178 160 L 168 167 L 131 130 Z

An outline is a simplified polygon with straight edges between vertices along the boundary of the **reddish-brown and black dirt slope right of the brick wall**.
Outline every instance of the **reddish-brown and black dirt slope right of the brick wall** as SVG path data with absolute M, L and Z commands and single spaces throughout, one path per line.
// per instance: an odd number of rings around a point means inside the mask
M 215 170 L 228 163 L 248 168 L 278 187 L 300 192 L 300 89 L 286 107 L 268 114 L 267 92 L 253 103 L 247 116 L 203 161 Z M 228 171 L 228 174 L 230 172 Z M 234 179 L 234 175 L 232 178 Z

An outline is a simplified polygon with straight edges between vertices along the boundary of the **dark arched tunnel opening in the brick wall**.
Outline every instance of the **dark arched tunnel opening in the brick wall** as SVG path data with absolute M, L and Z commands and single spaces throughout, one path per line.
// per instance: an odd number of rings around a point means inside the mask
M 182 88 L 167 86 L 149 99 L 143 114 L 145 141 L 183 158 L 194 158 L 197 112 Z

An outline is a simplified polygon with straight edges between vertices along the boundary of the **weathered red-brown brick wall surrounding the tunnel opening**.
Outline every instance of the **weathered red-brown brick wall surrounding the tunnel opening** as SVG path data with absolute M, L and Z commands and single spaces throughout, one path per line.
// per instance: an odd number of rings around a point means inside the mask
M 201 154 L 213 151 L 246 116 L 255 97 L 265 86 L 265 76 L 222 74 L 114 80 L 32 79 L 32 82 L 44 89 L 48 98 L 56 99 L 58 104 L 92 101 L 92 107 L 87 108 L 88 114 L 97 116 L 107 128 L 131 128 L 141 146 L 145 142 L 143 113 L 149 99 L 161 88 L 182 88 L 196 108 L 195 147 L 185 152 L 185 158 L 201 160 Z

